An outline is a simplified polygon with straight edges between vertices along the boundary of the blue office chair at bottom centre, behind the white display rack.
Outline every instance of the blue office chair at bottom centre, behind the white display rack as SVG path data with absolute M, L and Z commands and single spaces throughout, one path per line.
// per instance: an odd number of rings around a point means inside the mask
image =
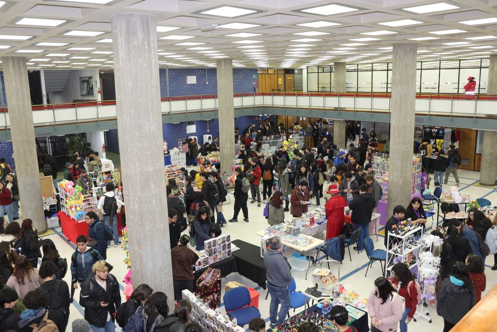
M 250 307 L 250 292 L 247 287 L 235 287 L 224 294 L 226 313 L 237 319 L 237 324 L 244 326 L 254 318 L 260 318 L 260 312 Z

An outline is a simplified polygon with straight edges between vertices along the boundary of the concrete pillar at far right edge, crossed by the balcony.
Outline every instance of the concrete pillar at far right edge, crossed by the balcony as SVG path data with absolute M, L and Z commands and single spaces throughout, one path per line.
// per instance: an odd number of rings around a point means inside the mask
M 490 56 L 487 94 L 497 95 L 497 54 Z M 497 131 L 483 131 L 482 166 L 480 184 L 494 186 L 497 177 Z

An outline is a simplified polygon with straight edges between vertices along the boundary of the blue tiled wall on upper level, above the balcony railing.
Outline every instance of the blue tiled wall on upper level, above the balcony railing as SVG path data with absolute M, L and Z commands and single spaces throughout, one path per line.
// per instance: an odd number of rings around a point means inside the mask
M 196 76 L 197 84 L 186 84 L 186 76 Z M 167 96 L 166 69 L 159 70 L 161 96 Z M 233 92 L 253 92 L 258 81 L 256 68 L 233 69 Z M 215 68 L 169 69 L 169 96 L 210 95 L 217 93 Z

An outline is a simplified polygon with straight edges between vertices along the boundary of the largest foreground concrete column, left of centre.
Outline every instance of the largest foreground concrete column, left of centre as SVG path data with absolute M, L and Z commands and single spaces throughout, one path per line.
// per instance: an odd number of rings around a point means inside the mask
M 145 13 L 111 16 L 117 130 L 133 283 L 166 293 L 174 308 L 156 22 Z M 147 174 L 138 182 L 137 169 Z

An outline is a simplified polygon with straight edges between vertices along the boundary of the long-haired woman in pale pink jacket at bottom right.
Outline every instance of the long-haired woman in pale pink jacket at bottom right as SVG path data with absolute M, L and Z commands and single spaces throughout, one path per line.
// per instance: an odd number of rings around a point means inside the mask
M 404 312 L 402 299 L 387 278 L 376 279 L 374 286 L 368 298 L 371 332 L 395 332 Z

